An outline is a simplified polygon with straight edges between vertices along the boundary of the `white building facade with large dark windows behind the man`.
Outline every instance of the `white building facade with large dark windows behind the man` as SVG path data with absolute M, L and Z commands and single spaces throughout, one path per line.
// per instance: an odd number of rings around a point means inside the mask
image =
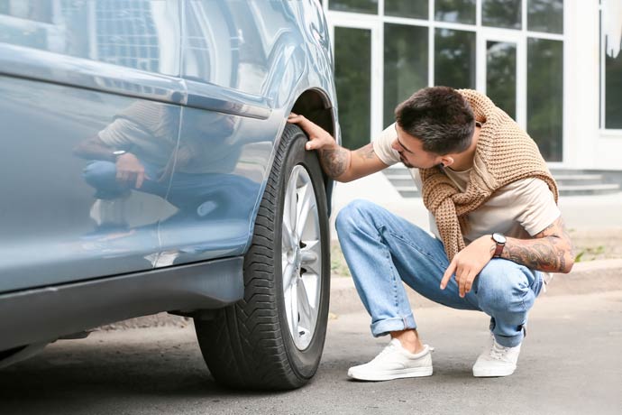
M 486 93 L 553 168 L 622 171 L 622 0 L 324 0 L 343 144 L 419 88 Z

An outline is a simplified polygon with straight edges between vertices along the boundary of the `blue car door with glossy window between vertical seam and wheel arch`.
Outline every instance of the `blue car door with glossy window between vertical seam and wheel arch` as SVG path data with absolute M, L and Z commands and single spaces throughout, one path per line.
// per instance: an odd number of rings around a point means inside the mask
M 176 212 L 160 227 L 169 253 L 162 266 L 244 253 L 292 104 L 287 86 L 305 62 L 297 5 L 197 0 L 183 7 L 188 106 L 168 198 Z

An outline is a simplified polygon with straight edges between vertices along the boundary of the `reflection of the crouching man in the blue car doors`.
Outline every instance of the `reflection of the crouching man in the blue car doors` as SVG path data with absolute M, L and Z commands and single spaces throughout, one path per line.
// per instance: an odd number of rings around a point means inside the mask
M 223 172 L 234 171 L 240 159 L 241 146 L 230 143 L 235 116 L 188 109 L 181 131 L 180 123 L 174 107 L 136 101 L 74 149 L 90 160 L 84 178 L 96 189 L 98 209 L 91 214 L 100 228 L 110 226 L 106 217 L 123 223 L 107 210 L 118 208 L 114 203 L 123 202 L 131 190 L 166 198 L 178 208 L 171 221 L 231 216 L 237 208 L 241 216 L 248 215 L 244 207 L 253 201 L 242 200 L 259 185 Z

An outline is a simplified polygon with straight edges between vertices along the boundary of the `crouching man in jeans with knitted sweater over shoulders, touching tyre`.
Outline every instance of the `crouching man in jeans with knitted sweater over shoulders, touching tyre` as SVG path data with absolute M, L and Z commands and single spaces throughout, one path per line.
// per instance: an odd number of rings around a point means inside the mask
M 490 316 L 491 337 L 474 376 L 507 376 L 517 367 L 527 312 L 543 272 L 570 272 L 572 244 L 557 208 L 557 187 L 531 138 L 488 97 L 473 90 L 417 91 L 396 109 L 395 124 L 349 151 L 300 115 L 325 172 L 356 180 L 399 161 L 411 168 L 430 235 L 368 201 L 336 218 L 337 234 L 374 337 L 391 341 L 348 376 L 367 381 L 428 376 L 431 347 L 421 342 L 401 281 L 454 309 Z

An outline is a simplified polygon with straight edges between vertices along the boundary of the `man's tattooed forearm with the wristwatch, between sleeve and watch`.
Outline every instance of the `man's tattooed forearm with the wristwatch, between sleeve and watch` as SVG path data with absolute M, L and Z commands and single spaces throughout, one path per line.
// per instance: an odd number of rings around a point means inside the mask
M 561 217 L 533 239 L 510 238 L 501 256 L 544 272 L 570 272 L 574 263 L 571 239 Z

